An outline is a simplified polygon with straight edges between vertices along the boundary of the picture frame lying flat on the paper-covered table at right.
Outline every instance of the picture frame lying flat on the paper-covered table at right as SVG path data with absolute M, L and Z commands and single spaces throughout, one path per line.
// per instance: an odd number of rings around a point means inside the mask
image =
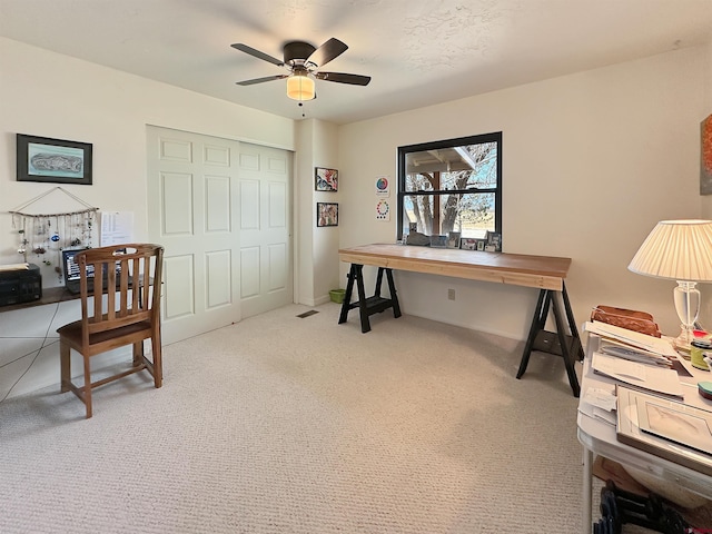
M 616 397 L 621 443 L 712 476 L 711 412 L 621 385 Z

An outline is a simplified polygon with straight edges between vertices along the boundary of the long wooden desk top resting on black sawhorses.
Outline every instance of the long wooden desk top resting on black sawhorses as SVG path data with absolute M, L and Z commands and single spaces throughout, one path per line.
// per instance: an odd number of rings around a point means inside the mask
M 338 255 L 350 264 L 557 291 L 571 266 L 571 258 L 390 244 L 342 248 Z

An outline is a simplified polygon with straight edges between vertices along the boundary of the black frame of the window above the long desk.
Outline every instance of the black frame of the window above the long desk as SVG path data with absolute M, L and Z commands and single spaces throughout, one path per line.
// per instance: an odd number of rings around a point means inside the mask
M 467 145 L 479 145 L 485 142 L 496 142 L 497 145 L 497 164 L 496 164 L 496 187 L 495 188 L 477 188 L 477 189 L 451 189 L 451 190 L 427 190 L 427 191 L 406 191 L 406 156 L 411 152 L 422 152 L 427 150 L 438 150 L 444 148 L 462 147 Z M 453 194 L 481 195 L 494 194 L 495 210 L 494 224 L 495 233 L 502 236 L 502 131 L 491 134 L 479 134 L 475 136 L 457 137 L 453 139 L 444 139 L 441 141 L 421 142 L 416 145 L 407 145 L 398 147 L 397 161 L 397 211 L 396 211 L 396 239 L 403 239 L 403 216 L 404 199 L 406 196 L 442 196 Z

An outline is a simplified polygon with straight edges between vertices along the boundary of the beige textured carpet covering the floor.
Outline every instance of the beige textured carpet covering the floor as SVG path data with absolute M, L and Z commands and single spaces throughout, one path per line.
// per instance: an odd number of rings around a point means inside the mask
M 166 346 L 162 388 L 99 388 L 88 421 L 56 390 L 0 403 L 0 533 L 580 531 L 561 358 L 517 380 L 520 342 L 308 309 Z

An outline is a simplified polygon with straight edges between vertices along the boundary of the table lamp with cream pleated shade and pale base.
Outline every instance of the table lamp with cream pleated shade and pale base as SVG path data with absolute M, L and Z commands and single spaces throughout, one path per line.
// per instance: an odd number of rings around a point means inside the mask
M 700 315 L 699 281 L 712 281 L 712 220 L 661 220 L 641 245 L 629 270 L 676 280 L 674 301 L 682 332 L 678 347 L 690 347 Z

